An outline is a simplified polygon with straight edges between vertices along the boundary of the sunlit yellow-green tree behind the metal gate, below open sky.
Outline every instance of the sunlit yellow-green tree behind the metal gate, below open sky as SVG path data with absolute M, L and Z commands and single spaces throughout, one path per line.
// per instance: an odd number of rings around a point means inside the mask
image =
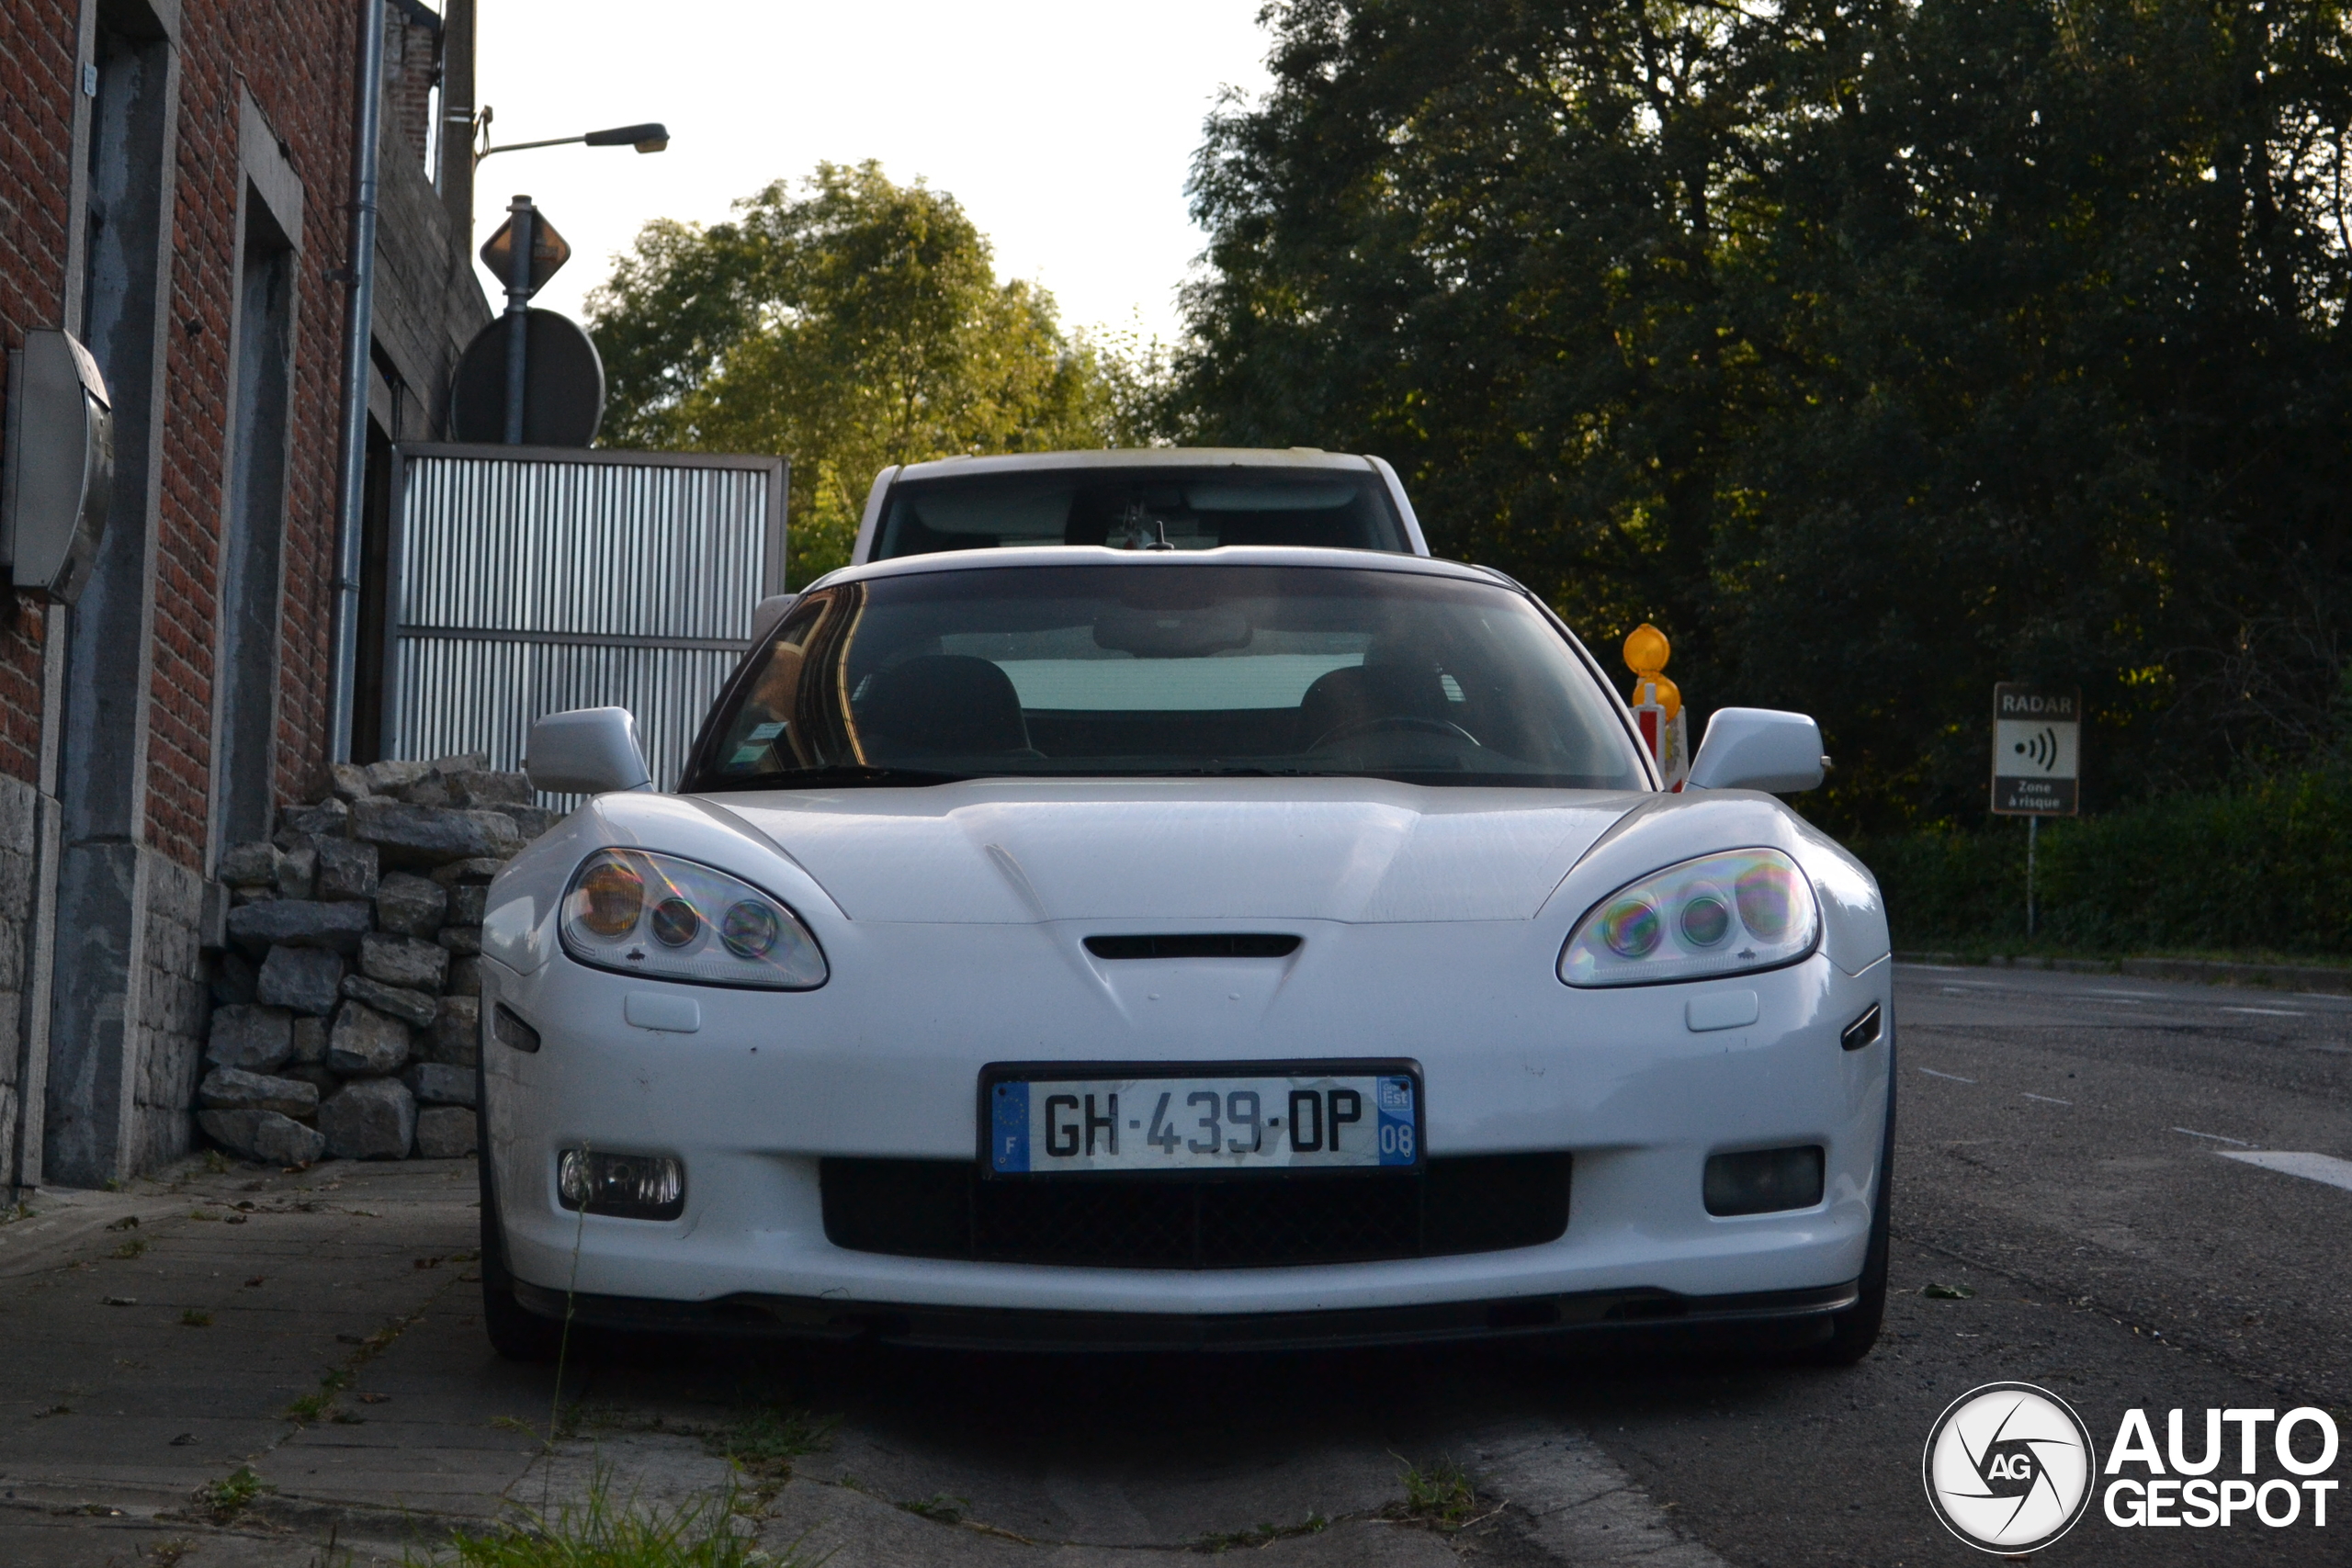
M 793 581 L 849 559 L 873 477 L 953 454 L 1138 440 L 1157 346 L 1061 329 L 955 197 L 818 165 L 729 223 L 656 221 L 588 299 L 604 440 L 793 458 Z

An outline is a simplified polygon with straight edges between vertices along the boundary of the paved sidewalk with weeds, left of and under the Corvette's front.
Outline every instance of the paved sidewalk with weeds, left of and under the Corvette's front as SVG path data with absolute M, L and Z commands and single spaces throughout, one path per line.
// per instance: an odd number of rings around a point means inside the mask
M 590 1338 L 557 1401 L 553 1368 L 482 1338 L 475 1225 L 473 1161 L 188 1161 L 35 1197 L 0 1222 L 0 1563 L 423 1563 L 597 1476 L 637 1507 L 731 1502 L 776 1563 L 833 1568 L 1124 1568 L 1216 1542 L 1268 1568 L 1472 1544 L 1719 1563 L 1548 1401 L 1498 1406 L 1444 1359 Z M 1399 1455 L 1479 1479 L 1465 1537 L 1390 1516 Z

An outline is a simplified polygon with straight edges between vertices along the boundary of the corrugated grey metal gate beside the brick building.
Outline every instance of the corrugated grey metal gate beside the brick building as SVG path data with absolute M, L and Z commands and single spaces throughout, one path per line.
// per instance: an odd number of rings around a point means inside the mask
M 395 447 L 381 755 L 520 769 L 532 719 L 614 703 L 677 788 L 783 592 L 783 496 L 767 456 Z

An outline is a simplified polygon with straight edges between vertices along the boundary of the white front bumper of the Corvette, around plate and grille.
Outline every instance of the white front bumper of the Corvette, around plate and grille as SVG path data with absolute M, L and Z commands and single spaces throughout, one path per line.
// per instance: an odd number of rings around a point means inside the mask
M 1557 933 L 1526 922 L 1310 931 L 1308 954 L 1345 959 L 1329 969 L 1211 959 L 1108 976 L 1080 936 L 851 926 L 828 933 L 835 980 L 797 994 L 659 987 L 562 957 L 527 976 L 485 961 L 485 1013 L 513 1006 L 543 1039 L 520 1053 L 485 1030 L 485 1157 L 524 1305 L 560 1314 L 569 1286 L 576 1319 L 637 1326 L 1256 1347 L 1851 1302 L 1893 1034 L 1844 1051 L 1839 1032 L 1889 1006 L 1884 961 L 1849 976 L 1816 954 L 1736 980 L 1576 992 L 1550 973 Z M 851 985 L 861 973 L 920 983 Z M 1486 994 L 1463 983 L 1498 973 L 1531 980 Z M 691 994 L 701 1030 L 628 1025 L 633 990 Z M 1755 1023 L 1686 1027 L 1686 1001 L 1724 990 L 1757 994 Z M 971 1159 L 985 1063 L 1364 1056 L 1421 1063 L 1432 1157 L 1569 1152 L 1566 1232 L 1491 1253 L 1247 1269 L 950 1262 L 826 1239 L 818 1161 Z M 1799 1143 L 1825 1150 L 1820 1204 L 1705 1213 L 1708 1154 Z M 684 1215 L 564 1211 L 555 1159 L 581 1145 L 682 1159 Z

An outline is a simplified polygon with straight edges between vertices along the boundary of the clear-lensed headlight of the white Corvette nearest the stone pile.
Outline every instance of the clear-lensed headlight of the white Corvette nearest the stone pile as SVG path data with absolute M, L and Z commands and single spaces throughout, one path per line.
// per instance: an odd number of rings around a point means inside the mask
M 814 990 L 826 954 L 788 907 L 727 872 L 600 849 L 564 889 L 564 952 L 595 969 L 701 985 Z

